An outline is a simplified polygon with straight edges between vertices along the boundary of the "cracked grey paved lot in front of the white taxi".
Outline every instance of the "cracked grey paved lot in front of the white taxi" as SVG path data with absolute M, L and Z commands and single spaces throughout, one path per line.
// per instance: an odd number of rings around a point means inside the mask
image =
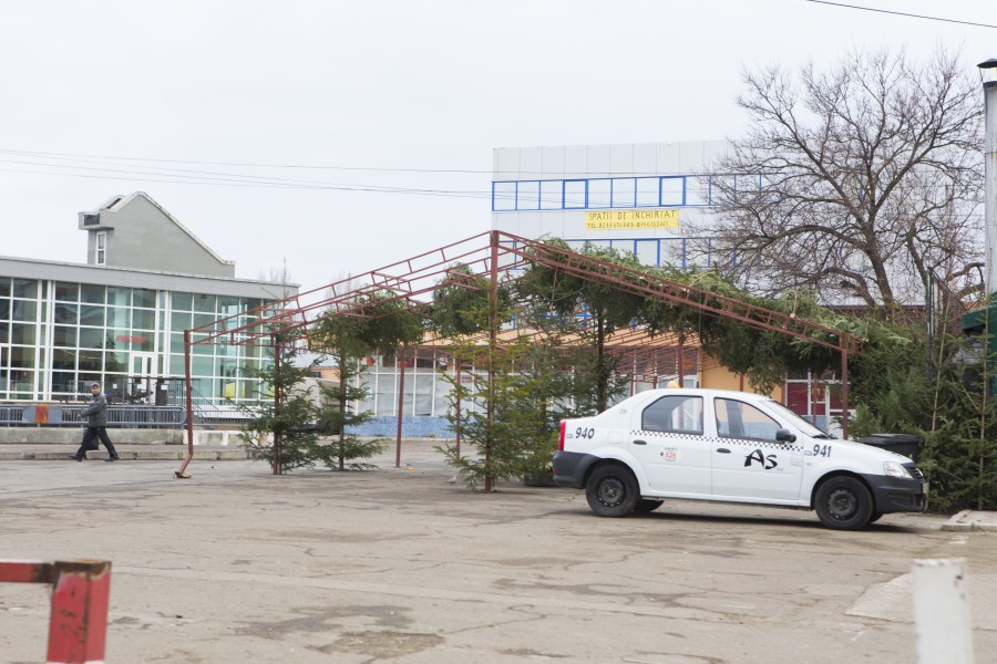
M 594 517 L 579 491 L 251 461 L 0 463 L 0 557 L 113 564 L 107 662 L 916 662 L 911 566 L 964 558 L 997 652 L 997 533 L 893 515 L 685 501 Z M 44 658 L 48 593 L 0 585 L 0 660 Z

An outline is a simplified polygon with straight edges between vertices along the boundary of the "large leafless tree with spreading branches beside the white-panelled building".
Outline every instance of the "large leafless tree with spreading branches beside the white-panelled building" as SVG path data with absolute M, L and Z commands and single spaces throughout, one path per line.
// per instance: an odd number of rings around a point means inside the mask
M 722 270 L 870 307 L 923 301 L 928 270 L 978 288 L 983 104 L 956 56 L 860 52 L 743 79 L 751 128 L 711 177 Z

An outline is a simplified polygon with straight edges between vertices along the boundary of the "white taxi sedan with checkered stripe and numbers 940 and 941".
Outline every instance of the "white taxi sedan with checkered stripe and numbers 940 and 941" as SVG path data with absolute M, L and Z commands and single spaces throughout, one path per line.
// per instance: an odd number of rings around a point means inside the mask
M 907 457 L 833 438 L 768 396 L 688 388 L 563 421 L 554 481 L 603 517 L 683 498 L 813 509 L 840 530 L 923 511 L 927 491 Z

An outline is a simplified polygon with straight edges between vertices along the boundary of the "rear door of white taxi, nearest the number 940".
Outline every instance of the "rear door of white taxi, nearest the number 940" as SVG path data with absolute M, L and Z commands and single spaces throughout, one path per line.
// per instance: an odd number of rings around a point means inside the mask
M 712 449 L 703 436 L 703 397 L 661 396 L 634 417 L 630 454 L 651 489 L 709 496 Z

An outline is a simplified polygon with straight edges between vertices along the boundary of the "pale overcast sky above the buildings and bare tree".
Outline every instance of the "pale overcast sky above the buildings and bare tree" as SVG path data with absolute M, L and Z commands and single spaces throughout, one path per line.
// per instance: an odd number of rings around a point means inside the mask
M 994 0 L 843 3 L 997 25 Z M 977 76 L 997 29 L 806 0 L 0 0 L 0 256 L 85 262 L 76 212 L 141 190 L 237 277 L 318 288 L 487 230 L 494 147 L 736 138 L 742 68 L 939 44 Z

